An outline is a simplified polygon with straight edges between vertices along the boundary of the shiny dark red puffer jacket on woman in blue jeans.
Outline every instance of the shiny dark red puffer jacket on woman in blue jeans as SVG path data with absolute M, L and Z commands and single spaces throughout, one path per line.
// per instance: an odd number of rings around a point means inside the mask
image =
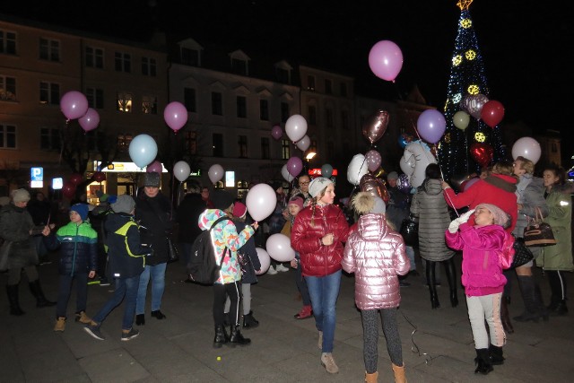
M 328 233 L 334 233 L 335 240 L 333 245 L 323 246 L 320 239 Z M 325 276 L 341 270 L 348 236 L 349 224 L 337 206 L 309 205 L 301 210 L 291 228 L 291 248 L 299 252 L 302 274 Z

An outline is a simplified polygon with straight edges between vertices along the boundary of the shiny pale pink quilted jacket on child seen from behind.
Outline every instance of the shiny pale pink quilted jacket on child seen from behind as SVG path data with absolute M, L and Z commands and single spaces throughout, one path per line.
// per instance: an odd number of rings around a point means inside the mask
M 344 247 L 344 271 L 355 274 L 357 308 L 390 309 L 401 303 L 398 277 L 409 272 L 403 237 L 385 214 L 365 214 Z

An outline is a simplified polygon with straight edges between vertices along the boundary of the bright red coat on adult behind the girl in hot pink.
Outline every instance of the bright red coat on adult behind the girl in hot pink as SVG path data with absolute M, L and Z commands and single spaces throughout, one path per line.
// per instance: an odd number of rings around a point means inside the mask
M 496 187 L 484 179 L 479 179 L 473 186 L 465 189 L 463 193 L 455 194 L 453 189 L 446 188 L 445 200 L 448 205 L 456 209 L 465 206 L 474 209 L 479 204 L 497 205 L 511 217 L 510 226 L 506 228 L 506 231 L 512 232 L 517 225 L 518 217 L 517 195 L 515 193 L 517 178 L 503 174 L 490 174 L 488 177 L 498 182 L 500 187 Z M 470 216 L 468 224 L 474 225 L 474 214 Z

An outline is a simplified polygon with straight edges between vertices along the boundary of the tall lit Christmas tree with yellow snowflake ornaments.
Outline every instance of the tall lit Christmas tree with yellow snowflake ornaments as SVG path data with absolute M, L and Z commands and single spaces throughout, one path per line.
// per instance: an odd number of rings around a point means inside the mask
M 448 95 L 444 114 L 447 128 L 439 143 L 439 163 L 445 178 L 453 175 L 480 173 L 481 168 L 506 158 L 500 127 L 487 126 L 480 119 L 490 90 L 486 81 L 483 56 L 478 47 L 468 7 L 473 0 L 459 0 L 457 39 L 452 55 Z M 458 123 L 455 115 L 470 115 L 469 123 Z M 457 115 L 463 116 L 461 114 Z

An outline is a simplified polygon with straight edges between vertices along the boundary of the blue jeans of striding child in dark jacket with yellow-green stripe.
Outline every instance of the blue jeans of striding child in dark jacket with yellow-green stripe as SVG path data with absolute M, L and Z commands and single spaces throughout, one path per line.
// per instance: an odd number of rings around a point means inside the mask
M 116 278 L 116 290 L 114 295 L 104 304 L 98 314 L 93 316 L 91 320 L 101 325 L 108 314 L 116 309 L 117 306 L 126 300 L 126 307 L 124 308 L 124 318 L 122 319 L 122 330 L 129 330 L 134 325 L 135 313 L 135 298 L 137 297 L 137 288 L 140 284 L 140 276 L 136 275 L 131 278 Z

